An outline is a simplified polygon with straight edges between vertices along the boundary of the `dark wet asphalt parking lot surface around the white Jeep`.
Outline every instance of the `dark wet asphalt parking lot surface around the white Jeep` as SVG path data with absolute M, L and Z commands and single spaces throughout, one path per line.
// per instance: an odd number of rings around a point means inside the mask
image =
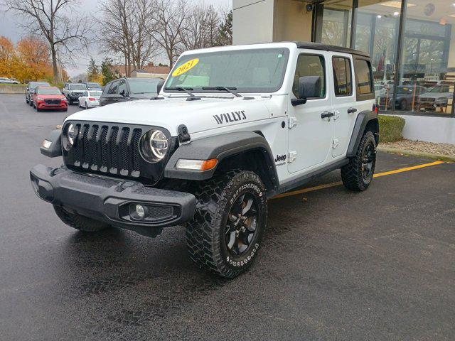
M 0 340 L 455 340 L 455 164 L 269 202 L 249 272 L 188 259 L 183 227 L 90 235 L 31 189 L 68 113 L 0 95 Z M 432 161 L 378 153 L 377 173 Z M 308 187 L 339 181 L 334 172 Z

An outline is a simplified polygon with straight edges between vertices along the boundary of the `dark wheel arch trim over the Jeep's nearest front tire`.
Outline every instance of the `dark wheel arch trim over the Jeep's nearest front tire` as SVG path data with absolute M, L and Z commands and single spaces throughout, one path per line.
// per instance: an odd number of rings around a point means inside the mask
M 239 168 L 254 171 L 269 191 L 279 187 L 277 169 L 272 150 L 262 134 L 255 131 L 238 131 L 209 136 L 190 144 L 179 146 L 169 159 L 164 170 L 166 178 L 186 180 L 207 180 L 215 172 Z M 217 166 L 210 171 L 192 171 L 176 168 L 178 159 L 218 159 Z

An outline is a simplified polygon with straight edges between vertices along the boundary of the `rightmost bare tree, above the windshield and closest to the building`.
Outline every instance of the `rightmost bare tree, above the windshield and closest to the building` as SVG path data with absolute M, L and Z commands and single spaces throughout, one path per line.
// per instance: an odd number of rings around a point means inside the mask
M 182 48 L 210 48 L 216 44 L 220 17 L 213 6 L 195 5 L 191 7 L 185 25 L 181 30 Z

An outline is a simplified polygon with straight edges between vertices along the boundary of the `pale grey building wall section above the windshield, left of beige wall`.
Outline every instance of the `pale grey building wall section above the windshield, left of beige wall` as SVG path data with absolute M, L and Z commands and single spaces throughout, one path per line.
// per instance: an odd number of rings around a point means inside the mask
M 274 0 L 232 0 L 232 44 L 273 41 Z

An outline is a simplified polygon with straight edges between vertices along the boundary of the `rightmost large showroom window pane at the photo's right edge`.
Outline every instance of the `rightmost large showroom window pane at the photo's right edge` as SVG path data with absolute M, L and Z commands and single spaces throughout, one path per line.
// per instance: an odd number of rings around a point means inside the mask
M 451 114 L 455 81 L 454 1 L 408 0 L 395 110 Z

